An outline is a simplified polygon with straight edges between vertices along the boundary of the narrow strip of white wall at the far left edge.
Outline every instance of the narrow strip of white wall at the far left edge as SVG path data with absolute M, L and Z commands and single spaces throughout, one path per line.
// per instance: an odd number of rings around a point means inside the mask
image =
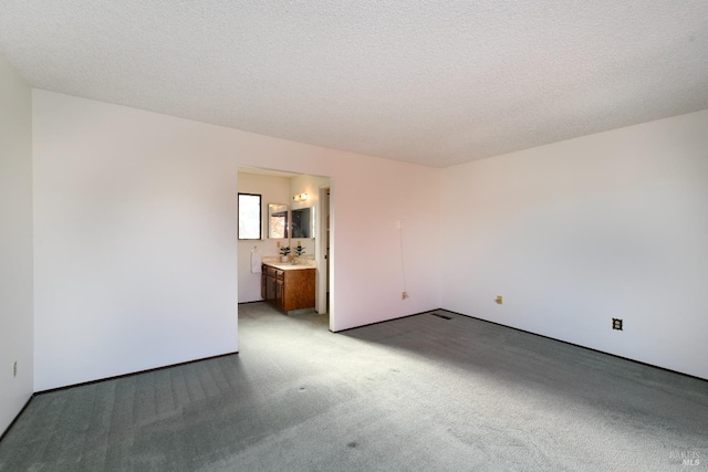
M 31 88 L 0 56 L 0 433 L 33 392 L 31 113 Z

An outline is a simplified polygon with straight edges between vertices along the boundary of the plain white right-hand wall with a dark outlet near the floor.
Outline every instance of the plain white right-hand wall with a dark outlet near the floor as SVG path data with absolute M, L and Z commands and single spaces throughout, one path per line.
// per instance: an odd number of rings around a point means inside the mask
M 444 306 L 708 378 L 706 130 L 708 111 L 445 169 Z

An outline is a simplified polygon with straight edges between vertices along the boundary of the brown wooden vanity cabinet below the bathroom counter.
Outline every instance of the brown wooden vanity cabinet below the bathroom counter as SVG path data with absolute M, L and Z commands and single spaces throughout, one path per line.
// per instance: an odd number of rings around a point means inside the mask
M 314 307 L 315 270 L 261 266 L 261 297 L 285 313 Z

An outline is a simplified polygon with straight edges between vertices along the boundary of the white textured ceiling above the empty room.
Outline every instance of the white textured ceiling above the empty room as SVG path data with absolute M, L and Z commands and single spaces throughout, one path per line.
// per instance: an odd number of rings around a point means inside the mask
M 708 108 L 707 0 L 0 0 L 34 86 L 445 167 Z

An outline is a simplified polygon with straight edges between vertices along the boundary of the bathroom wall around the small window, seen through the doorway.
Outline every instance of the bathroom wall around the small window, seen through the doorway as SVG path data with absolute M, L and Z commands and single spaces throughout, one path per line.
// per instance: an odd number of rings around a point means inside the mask
M 261 300 L 261 274 L 251 272 L 251 250 L 257 247 L 261 256 L 280 255 L 278 242 L 288 245 L 288 240 L 268 238 L 268 204 L 290 204 L 290 179 L 256 174 L 239 172 L 239 191 L 259 193 L 263 206 L 263 239 L 239 241 L 239 303 Z

